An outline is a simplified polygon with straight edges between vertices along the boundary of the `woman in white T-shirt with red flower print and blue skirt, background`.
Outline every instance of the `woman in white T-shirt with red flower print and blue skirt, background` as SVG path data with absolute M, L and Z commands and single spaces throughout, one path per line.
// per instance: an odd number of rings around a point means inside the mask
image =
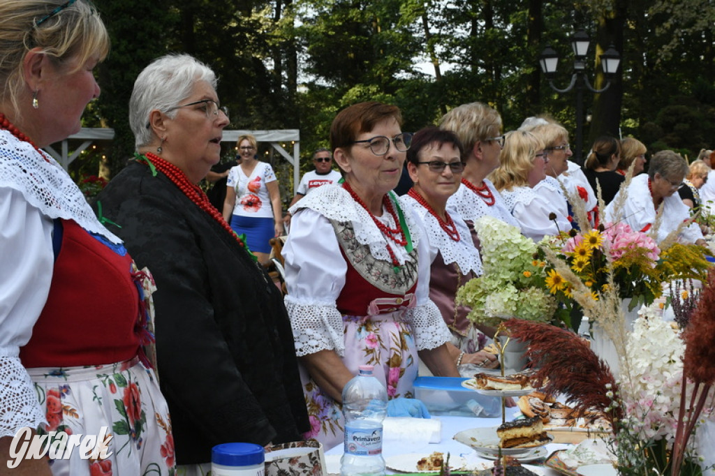
M 237 234 L 245 234 L 260 263 L 268 261 L 270 239 L 283 234 L 283 205 L 278 179 L 270 164 L 257 156 L 256 138 L 238 138 L 241 163 L 228 173 L 223 217 Z

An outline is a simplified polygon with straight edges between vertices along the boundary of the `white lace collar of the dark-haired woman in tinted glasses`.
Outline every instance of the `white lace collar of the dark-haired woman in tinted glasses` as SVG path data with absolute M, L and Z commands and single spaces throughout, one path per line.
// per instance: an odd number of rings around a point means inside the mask
M 439 250 L 445 264 L 456 263 L 462 274 L 467 274 L 470 270 L 476 274 L 482 274 L 482 260 L 472 242 L 472 234 L 456 210 L 450 209 L 448 214 L 452 217 L 452 221 L 459 233 L 460 239 L 458 242 L 451 239 L 440 226 L 438 219 L 413 197 L 403 195 L 400 197 L 400 202 L 405 204 L 405 208 L 412 209 L 417 217 L 422 220 L 430 247 Z

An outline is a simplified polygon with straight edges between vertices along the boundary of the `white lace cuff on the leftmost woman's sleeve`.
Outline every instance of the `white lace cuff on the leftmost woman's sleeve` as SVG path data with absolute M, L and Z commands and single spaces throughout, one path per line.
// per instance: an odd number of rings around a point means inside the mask
M 0 357 L 0 438 L 46 424 L 30 376 L 18 357 Z

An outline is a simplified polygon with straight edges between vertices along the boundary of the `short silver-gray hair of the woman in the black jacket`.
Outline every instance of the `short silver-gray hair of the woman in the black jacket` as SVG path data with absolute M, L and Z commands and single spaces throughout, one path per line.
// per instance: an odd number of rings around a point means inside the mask
M 189 54 L 161 56 L 139 73 L 129 99 L 129 127 L 137 150 L 152 142 L 149 114 L 157 109 L 176 116 L 176 110 L 166 111 L 187 99 L 198 81 L 207 81 L 214 89 L 218 84 L 214 71 Z

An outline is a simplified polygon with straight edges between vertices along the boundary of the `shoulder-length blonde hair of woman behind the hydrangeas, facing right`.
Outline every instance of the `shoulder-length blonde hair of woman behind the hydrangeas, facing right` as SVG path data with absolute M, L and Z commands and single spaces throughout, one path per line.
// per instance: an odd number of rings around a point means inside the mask
M 527 131 L 507 132 L 504 149 L 499 156 L 501 165 L 489 176 L 494 187 L 500 192 L 503 189 L 511 190 L 512 187 L 528 187 L 529 172 L 539 150 L 543 150 L 543 142 L 535 134 Z

